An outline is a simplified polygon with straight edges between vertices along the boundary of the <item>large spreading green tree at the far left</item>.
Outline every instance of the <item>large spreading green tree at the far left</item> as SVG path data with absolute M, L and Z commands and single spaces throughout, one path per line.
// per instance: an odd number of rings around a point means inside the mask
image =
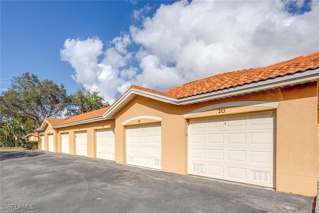
M 13 77 L 7 91 L 1 93 L 1 114 L 40 126 L 45 117 L 59 117 L 69 104 L 63 84 L 38 80 L 28 72 Z M 31 120 L 31 121 L 30 121 Z

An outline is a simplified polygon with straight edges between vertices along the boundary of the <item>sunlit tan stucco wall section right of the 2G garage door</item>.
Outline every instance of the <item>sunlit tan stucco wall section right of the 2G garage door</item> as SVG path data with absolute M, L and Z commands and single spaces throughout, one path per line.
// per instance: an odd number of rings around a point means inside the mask
M 317 195 L 317 105 L 317 96 L 279 102 L 277 191 Z

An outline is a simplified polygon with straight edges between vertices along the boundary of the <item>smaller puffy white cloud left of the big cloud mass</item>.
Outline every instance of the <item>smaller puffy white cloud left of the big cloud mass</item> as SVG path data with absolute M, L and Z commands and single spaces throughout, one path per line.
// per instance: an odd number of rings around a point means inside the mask
M 123 41 L 124 40 L 124 41 Z M 120 51 L 125 52 L 125 38 L 118 38 L 114 43 L 124 42 Z M 60 50 L 61 59 L 68 61 L 75 70 L 72 78 L 93 91 L 101 91 L 107 101 L 113 103 L 117 88 L 125 83 L 119 77 L 119 67 L 126 65 L 131 53 L 122 54 L 110 47 L 102 51 L 103 43 L 99 38 L 87 40 L 67 39 Z M 120 48 L 120 47 L 119 47 Z M 102 62 L 98 58 L 104 54 Z

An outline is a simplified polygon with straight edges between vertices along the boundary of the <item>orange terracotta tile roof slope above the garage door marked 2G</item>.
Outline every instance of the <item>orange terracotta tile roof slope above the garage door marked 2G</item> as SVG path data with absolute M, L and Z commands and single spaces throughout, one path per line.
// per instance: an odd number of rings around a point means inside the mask
M 282 61 L 267 67 L 217 74 L 168 89 L 163 91 L 162 94 L 165 94 L 165 96 L 168 97 L 173 96 L 176 99 L 180 99 L 276 78 L 279 76 L 294 74 L 296 72 L 317 69 L 318 67 L 319 52 L 315 52 L 307 56 L 300 56 L 298 58 Z

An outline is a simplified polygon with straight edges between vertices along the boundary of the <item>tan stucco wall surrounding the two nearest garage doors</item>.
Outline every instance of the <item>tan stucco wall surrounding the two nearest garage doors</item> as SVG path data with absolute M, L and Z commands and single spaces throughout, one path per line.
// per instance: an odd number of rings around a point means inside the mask
M 318 179 L 318 90 L 317 83 L 275 89 L 217 101 L 176 106 L 138 96 L 115 115 L 115 160 L 126 164 L 126 136 L 123 122 L 137 116 L 161 120 L 162 171 L 187 174 L 187 119 L 184 114 L 225 102 L 269 101 L 277 107 L 277 190 L 316 196 Z M 191 118 L 274 110 L 265 107 L 230 107 L 198 113 Z M 135 121 L 137 123 L 137 120 Z M 147 122 L 145 119 L 142 123 Z M 151 121 L 149 121 L 151 122 Z M 155 121 L 154 121 L 155 122 Z M 130 125 L 136 124 L 131 121 Z

